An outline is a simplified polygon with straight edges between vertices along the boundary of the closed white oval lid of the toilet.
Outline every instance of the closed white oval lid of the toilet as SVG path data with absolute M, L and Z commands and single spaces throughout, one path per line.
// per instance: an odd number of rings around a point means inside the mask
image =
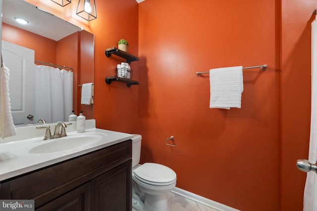
M 176 173 L 172 169 L 154 163 L 145 163 L 134 170 L 134 174 L 143 181 L 151 183 L 170 183 L 176 180 Z

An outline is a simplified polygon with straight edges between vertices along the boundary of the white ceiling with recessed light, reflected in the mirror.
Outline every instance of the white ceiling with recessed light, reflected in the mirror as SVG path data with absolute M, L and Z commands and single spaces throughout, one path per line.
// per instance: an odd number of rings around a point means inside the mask
M 19 24 L 14 20 L 14 17 L 24 18 L 29 24 Z M 2 22 L 54 41 L 76 31 L 81 31 L 79 27 L 50 13 L 43 12 L 24 0 L 2 0 Z

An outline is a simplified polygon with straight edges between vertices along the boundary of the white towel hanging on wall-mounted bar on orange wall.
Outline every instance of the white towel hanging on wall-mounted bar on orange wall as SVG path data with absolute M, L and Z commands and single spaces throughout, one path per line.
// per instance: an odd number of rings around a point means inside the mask
M 242 66 L 210 70 L 210 108 L 241 108 Z

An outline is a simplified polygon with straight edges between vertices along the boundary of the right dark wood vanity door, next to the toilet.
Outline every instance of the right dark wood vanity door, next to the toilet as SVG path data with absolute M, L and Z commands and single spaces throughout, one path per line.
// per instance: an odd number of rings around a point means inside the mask
M 92 180 L 92 211 L 132 210 L 131 160 Z

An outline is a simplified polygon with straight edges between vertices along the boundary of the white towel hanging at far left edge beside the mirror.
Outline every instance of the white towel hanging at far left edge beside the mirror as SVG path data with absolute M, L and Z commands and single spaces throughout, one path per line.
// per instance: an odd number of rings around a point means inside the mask
M 0 138 L 16 135 L 9 97 L 9 69 L 2 64 L 0 82 Z

